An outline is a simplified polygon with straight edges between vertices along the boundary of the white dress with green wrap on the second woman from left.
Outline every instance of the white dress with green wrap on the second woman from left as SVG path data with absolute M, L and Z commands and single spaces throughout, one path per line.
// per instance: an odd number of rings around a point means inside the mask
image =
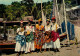
M 27 53 L 27 52 L 35 50 L 35 48 L 34 48 L 34 35 L 33 35 L 33 32 L 35 32 L 35 31 L 34 31 L 34 26 L 26 26 L 25 29 L 26 29 L 25 31 L 27 31 L 25 53 Z

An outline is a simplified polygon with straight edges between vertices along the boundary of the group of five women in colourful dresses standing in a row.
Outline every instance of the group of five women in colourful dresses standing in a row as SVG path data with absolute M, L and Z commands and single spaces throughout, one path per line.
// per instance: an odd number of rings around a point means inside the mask
M 24 27 L 20 22 L 20 28 L 17 29 L 16 36 L 16 52 L 30 53 L 35 50 L 55 49 L 59 51 L 60 37 L 58 33 L 59 25 L 56 23 L 55 17 L 46 20 L 46 25 L 42 25 L 42 20 L 38 20 L 38 24 L 32 25 L 33 20 L 30 19 Z M 52 22 L 52 23 L 51 23 Z

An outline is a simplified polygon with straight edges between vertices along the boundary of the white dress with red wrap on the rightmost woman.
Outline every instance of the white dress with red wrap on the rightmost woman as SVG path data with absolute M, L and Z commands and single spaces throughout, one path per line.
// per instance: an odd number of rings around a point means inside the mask
M 53 41 L 53 48 L 60 48 L 59 33 L 56 32 L 58 28 L 59 26 L 57 23 L 54 23 L 51 28 L 51 40 Z

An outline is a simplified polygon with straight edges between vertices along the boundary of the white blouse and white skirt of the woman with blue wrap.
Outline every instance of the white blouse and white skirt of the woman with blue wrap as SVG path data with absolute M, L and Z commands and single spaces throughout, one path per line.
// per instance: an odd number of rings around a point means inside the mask
M 23 32 L 18 32 L 20 30 L 21 30 L 21 27 L 17 29 L 18 35 L 24 35 L 24 31 Z M 15 51 L 16 52 L 25 51 L 25 45 L 21 46 L 21 44 L 17 41 L 16 46 L 15 46 Z

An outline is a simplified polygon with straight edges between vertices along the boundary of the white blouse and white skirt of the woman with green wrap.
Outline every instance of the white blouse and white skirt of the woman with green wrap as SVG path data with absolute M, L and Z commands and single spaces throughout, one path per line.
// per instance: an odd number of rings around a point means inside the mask
M 34 26 L 26 26 L 25 31 L 35 32 L 34 31 Z M 35 50 L 34 41 L 26 42 L 25 53 L 28 53 L 28 52 L 34 51 L 34 50 Z

